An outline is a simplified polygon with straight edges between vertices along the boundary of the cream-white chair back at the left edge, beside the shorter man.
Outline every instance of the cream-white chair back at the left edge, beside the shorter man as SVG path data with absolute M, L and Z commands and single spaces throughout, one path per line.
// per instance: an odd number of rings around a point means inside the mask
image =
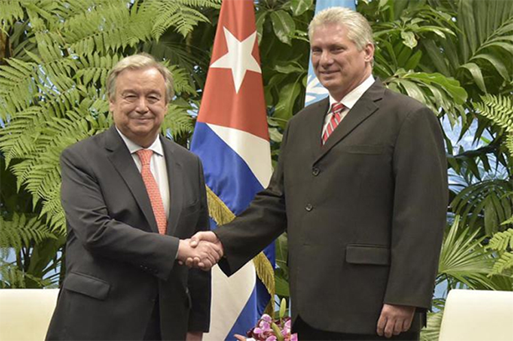
M 0 341 L 45 340 L 58 289 L 0 289 Z

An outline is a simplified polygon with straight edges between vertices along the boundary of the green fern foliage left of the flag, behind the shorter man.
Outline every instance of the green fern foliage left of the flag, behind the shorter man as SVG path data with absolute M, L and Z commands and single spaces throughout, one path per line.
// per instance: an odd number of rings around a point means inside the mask
M 0 129 L 0 150 L 5 166 L 16 177 L 17 190 L 27 192 L 32 203 L 19 214 L 10 211 L 1 217 L 1 247 L 16 250 L 16 264 L 3 264 L 3 269 L 16 265 L 22 273 L 43 278 L 46 265 L 58 263 L 56 247 L 48 247 L 56 243 L 41 240 L 57 239 L 57 249 L 62 245 L 59 155 L 70 144 L 110 126 L 106 74 L 123 55 L 158 50 L 158 58 L 168 63 L 174 75 L 179 98 L 169 105 L 163 131 L 176 139 L 191 134 L 193 120 L 187 110 L 197 105 L 201 84 L 191 72 L 194 59 L 183 62 L 189 60 L 184 58 L 189 55 L 186 39 L 199 23 L 208 22 L 202 12 L 219 8 L 219 3 L 2 2 L 0 119 L 5 127 Z M 173 45 L 163 43 L 170 40 Z M 25 213 L 32 218 L 25 218 Z M 36 264 L 45 261 L 35 271 Z M 16 274 L 4 272 L 3 278 Z

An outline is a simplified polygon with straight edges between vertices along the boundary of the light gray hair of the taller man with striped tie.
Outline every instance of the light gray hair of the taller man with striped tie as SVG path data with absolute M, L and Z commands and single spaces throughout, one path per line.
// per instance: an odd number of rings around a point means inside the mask
M 347 28 L 347 37 L 352 40 L 357 49 L 361 51 L 367 44 L 374 45 L 372 29 L 363 15 L 345 7 L 331 7 L 315 14 L 308 26 L 308 36 L 312 39 L 313 32 L 320 26 L 328 24 L 344 25 Z

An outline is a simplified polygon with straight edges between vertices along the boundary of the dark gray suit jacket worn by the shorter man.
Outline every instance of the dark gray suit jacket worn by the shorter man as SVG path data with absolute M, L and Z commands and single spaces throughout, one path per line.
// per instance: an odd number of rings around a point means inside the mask
M 164 340 L 208 331 L 210 273 L 175 260 L 178 238 L 209 227 L 202 165 L 160 140 L 171 201 L 167 236 L 158 234 L 141 174 L 115 127 L 62 152 L 67 274 L 48 340 L 142 340 L 157 296 Z

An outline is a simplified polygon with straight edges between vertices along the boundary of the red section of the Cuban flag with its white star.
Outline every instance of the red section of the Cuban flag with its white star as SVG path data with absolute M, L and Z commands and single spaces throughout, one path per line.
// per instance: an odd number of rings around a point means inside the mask
M 224 0 L 198 121 L 269 140 L 252 0 Z

